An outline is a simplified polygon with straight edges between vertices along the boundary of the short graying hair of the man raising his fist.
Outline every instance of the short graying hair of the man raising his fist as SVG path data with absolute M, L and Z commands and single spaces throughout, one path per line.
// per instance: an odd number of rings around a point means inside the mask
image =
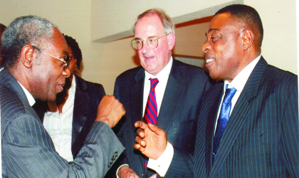
M 14 66 L 21 49 L 27 44 L 35 44 L 41 49 L 46 48 L 53 40 L 53 28 L 58 29 L 56 25 L 39 16 L 21 16 L 11 22 L 1 38 L 4 68 Z

